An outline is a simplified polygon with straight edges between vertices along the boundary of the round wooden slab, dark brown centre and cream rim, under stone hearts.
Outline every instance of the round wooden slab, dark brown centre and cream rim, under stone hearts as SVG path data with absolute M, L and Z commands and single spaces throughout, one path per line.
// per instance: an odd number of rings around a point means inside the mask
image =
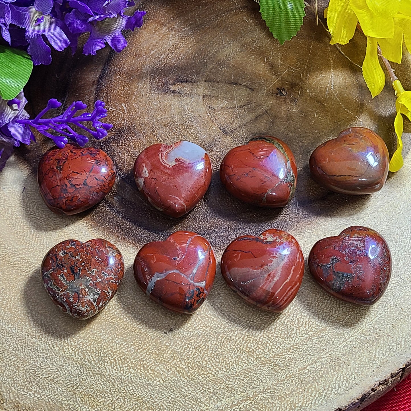
M 344 128 L 374 129 L 393 152 L 395 97 L 387 83 L 371 96 L 361 70 L 330 46 L 307 16 L 280 46 L 252 0 L 150 0 L 143 28 L 120 54 L 53 56 L 26 87 L 30 114 L 51 97 L 104 99 L 109 137 L 91 145 L 118 170 L 111 193 L 92 210 L 54 215 L 36 182 L 51 147 L 15 151 L 0 173 L 0 408 L 6 410 L 358 410 L 410 372 L 411 160 L 370 196 L 333 194 L 309 178 L 314 148 Z M 321 10 L 320 10 L 321 16 Z M 344 53 L 361 64 L 356 35 Z M 397 75 L 411 88 L 410 58 Z M 408 129 L 406 129 L 408 131 Z M 258 134 L 284 139 L 298 186 L 284 209 L 231 197 L 218 178 L 224 154 Z M 146 146 L 181 139 L 208 151 L 214 174 L 186 217 L 161 215 L 141 199 L 132 176 Z M 205 236 L 217 259 L 237 236 L 289 231 L 307 257 L 314 243 L 358 224 L 390 245 L 393 274 L 383 298 L 357 307 L 325 292 L 305 272 L 282 314 L 247 305 L 220 272 L 205 303 L 182 316 L 149 300 L 132 275 L 139 248 L 179 229 Z M 44 254 L 70 238 L 105 238 L 125 259 L 117 295 L 89 321 L 60 312 L 42 289 Z

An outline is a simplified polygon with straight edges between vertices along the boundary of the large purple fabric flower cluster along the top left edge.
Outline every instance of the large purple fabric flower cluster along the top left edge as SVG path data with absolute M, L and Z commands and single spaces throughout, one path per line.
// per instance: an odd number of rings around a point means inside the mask
M 0 0 L 0 35 L 27 49 L 35 65 L 50 64 L 49 44 L 58 51 L 71 46 L 74 53 L 87 32 L 84 54 L 94 55 L 106 44 L 120 52 L 127 46 L 122 30 L 143 25 L 145 12 L 124 13 L 134 5 L 129 0 Z

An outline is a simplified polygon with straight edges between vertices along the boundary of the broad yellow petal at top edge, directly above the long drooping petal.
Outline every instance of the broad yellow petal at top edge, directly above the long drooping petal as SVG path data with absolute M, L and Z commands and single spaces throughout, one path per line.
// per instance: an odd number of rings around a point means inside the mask
M 372 13 L 365 0 L 350 0 L 350 5 L 357 15 L 361 29 L 366 36 L 383 39 L 392 39 L 394 37 L 393 17 L 381 17 Z

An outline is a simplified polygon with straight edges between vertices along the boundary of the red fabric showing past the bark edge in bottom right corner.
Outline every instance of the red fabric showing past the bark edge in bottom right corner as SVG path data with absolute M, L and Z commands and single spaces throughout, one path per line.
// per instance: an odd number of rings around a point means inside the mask
M 411 375 L 363 411 L 411 411 Z

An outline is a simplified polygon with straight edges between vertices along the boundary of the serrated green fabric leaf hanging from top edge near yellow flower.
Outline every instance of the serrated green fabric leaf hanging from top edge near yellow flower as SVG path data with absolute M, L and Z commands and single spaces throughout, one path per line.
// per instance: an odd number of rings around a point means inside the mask
M 260 0 L 261 17 L 281 44 L 300 30 L 304 7 L 304 0 Z

